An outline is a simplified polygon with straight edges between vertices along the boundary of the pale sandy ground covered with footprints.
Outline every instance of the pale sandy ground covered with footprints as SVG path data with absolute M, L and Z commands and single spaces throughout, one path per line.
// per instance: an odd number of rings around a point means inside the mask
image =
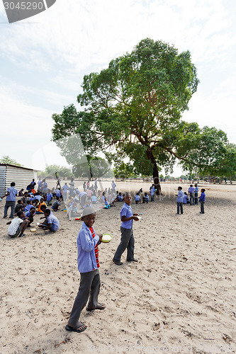
M 149 189 L 117 184 L 120 191 Z M 57 212 L 59 232 L 28 229 L 26 237 L 9 239 L 8 219 L 0 219 L 0 353 L 235 353 L 236 185 L 204 185 L 205 215 L 199 205 L 176 215 L 177 186 L 163 183 L 161 199 L 132 205 L 143 213 L 134 222 L 139 263 L 125 262 L 125 253 L 123 265 L 112 263 L 121 203 L 97 212 L 96 232 L 113 234 L 99 246 L 106 309 L 83 310 L 83 333 L 64 329 L 79 286 L 81 222 Z

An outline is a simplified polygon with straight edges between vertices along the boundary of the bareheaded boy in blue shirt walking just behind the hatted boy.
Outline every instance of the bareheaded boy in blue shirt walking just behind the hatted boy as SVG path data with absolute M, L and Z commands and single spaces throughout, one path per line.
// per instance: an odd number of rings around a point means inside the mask
M 130 204 L 132 202 L 132 197 L 130 193 L 125 193 L 124 205 L 120 210 L 120 219 L 121 219 L 121 239 L 120 244 L 116 250 L 116 253 L 113 257 L 113 263 L 116 265 L 123 264 L 120 262 L 122 253 L 127 249 L 127 258 L 128 262 L 137 262 L 134 258 L 135 251 L 135 239 L 133 236 L 133 220 L 138 221 L 138 214 L 133 214 L 132 207 Z

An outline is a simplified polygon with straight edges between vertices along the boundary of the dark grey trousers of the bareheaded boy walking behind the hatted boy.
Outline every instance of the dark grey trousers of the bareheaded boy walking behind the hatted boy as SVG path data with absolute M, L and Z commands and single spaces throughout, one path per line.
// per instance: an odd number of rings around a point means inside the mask
M 127 249 L 126 260 L 133 261 L 133 255 L 135 251 L 135 238 L 133 236 L 133 229 L 124 229 L 124 227 L 120 227 L 120 231 L 120 244 L 116 250 L 115 256 L 113 257 L 113 261 L 120 262 L 121 255 L 125 251 L 125 249 Z

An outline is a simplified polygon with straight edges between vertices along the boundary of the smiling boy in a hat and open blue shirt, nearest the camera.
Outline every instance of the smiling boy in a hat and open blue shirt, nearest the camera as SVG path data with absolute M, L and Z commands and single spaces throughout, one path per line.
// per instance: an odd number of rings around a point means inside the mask
M 78 270 L 80 273 L 79 291 L 74 300 L 69 321 L 65 327 L 67 331 L 83 332 L 87 326 L 79 321 L 79 316 L 89 299 L 87 311 L 94 309 L 105 309 L 99 304 L 100 275 L 99 275 L 99 248 L 102 234 L 95 234 L 93 224 L 96 219 L 96 212 L 91 207 L 86 207 L 82 214 L 83 224 L 77 237 L 78 249 Z M 90 295 L 90 296 L 89 296 Z

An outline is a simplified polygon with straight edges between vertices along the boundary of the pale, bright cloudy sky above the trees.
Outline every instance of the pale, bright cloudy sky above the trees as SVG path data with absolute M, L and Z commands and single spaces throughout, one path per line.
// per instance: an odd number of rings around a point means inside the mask
M 77 105 L 85 74 L 147 37 L 191 52 L 201 83 L 184 120 L 222 129 L 236 144 L 235 18 L 235 0 L 57 0 L 9 24 L 1 2 L 0 157 L 35 169 L 63 164 L 50 149 L 52 113 Z

